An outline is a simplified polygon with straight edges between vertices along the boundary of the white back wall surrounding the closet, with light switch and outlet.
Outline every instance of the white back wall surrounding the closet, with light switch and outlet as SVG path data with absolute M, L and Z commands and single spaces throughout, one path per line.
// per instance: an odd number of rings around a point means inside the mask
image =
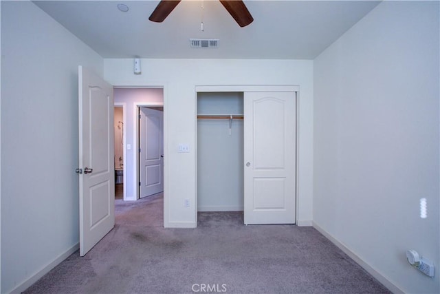
M 104 59 L 104 78 L 113 85 L 164 86 L 165 201 L 167 227 L 195 227 L 196 85 L 299 85 L 299 224 L 311 224 L 313 176 L 313 61 L 142 59 L 142 75 L 133 59 Z M 177 153 L 187 143 L 189 153 Z M 184 200 L 190 207 L 184 207 Z

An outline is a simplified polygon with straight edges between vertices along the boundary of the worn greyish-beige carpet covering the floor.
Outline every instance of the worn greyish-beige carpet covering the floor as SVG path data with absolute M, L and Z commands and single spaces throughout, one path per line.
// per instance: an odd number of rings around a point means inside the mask
M 162 195 L 116 200 L 115 228 L 25 293 L 390 293 L 312 227 L 198 218 L 197 229 L 164 229 Z

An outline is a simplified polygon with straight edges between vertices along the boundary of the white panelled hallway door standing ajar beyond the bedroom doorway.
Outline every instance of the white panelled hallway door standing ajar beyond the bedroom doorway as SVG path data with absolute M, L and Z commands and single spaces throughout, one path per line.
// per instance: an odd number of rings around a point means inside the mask
M 155 108 L 140 107 L 140 198 L 164 191 L 164 112 Z

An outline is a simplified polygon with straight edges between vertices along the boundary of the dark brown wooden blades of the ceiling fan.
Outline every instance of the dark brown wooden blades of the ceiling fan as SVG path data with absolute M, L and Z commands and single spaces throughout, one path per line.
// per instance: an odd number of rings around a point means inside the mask
M 181 0 L 170 1 L 170 0 L 162 0 L 157 4 L 157 7 L 153 11 L 153 13 L 148 18 L 151 21 L 156 23 L 162 23 L 168 17 L 173 9 L 180 3 Z M 246 8 L 245 3 L 239 0 L 219 0 L 221 4 L 228 10 L 229 14 L 235 19 L 236 23 L 238 23 L 242 28 L 246 25 L 252 23 L 254 18 L 250 14 L 248 8 Z

